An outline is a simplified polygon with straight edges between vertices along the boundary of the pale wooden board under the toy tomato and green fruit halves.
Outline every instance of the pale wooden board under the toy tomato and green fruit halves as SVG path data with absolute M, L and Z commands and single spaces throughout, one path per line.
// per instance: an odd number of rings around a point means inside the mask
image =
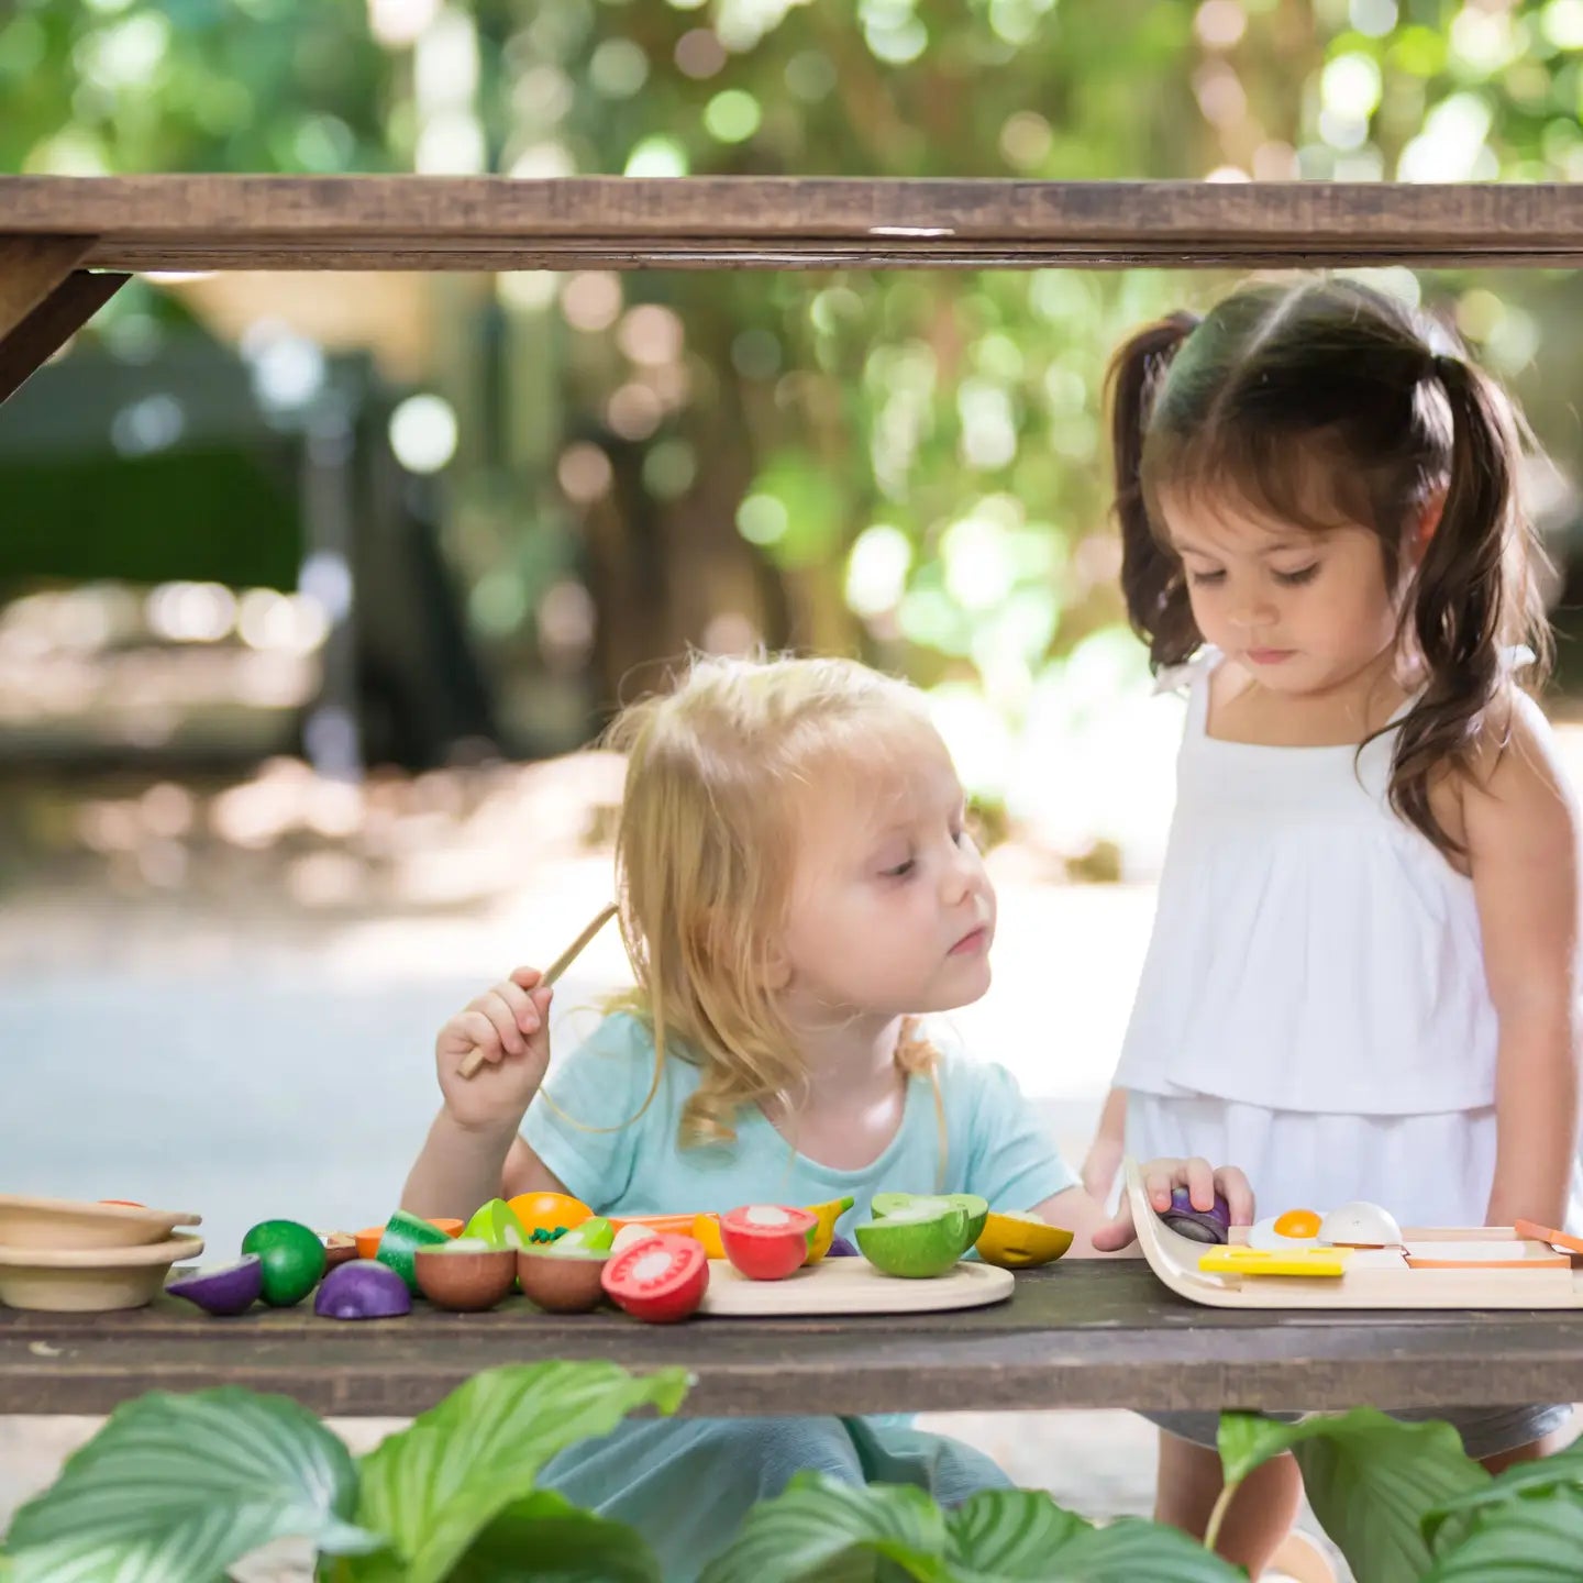
M 1016 1285 L 1010 1270 L 959 1263 L 943 1276 L 902 1281 L 866 1258 L 822 1258 L 785 1281 L 749 1281 L 723 1258 L 709 1260 L 703 1314 L 931 1314 L 1004 1303 Z

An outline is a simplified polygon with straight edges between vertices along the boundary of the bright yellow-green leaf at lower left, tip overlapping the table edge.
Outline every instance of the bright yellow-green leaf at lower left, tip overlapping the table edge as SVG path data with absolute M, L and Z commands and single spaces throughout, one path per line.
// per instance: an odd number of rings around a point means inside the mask
M 438 1583 L 483 1531 L 533 1493 L 540 1469 L 636 1407 L 674 1412 L 685 1369 L 643 1379 L 614 1363 L 488 1369 L 363 1458 L 358 1521 L 391 1553 L 337 1570 L 348 1583 Z

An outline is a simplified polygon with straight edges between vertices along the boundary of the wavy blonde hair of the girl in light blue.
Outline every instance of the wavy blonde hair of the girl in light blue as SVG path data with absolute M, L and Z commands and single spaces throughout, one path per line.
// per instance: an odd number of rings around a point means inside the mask
M 674 690 L 624 709 L 606 733 L 627 755 L 616 901 L 636 978 L 609 1008 L 654 1034 L 643 1110 L 666 1051 L 701 1069 L 684 1148 L 733 1141 L 742 1107 L 801 1100 L 806 1073 L 773 988 L 799 799 L 842 776 L 856 788 L 866 768 L 917 754 L 926 733 L 923 698 L 905 682 L 792 657 L 695 659 Z M 934 1050 L 912 1024 L 896 1062 L 934 1076 Z

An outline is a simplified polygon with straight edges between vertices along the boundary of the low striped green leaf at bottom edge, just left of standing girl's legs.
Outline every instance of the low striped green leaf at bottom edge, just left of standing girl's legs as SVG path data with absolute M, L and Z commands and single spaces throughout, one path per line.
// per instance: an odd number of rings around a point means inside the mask
M 1243 1572 L 1162 1523 L 1095 1528 L 1040 1491 L 991 1490 L 947 1518 L 953 1583 L 1239 1583 Z M 956 1564 L 961 1562 L 961 1564 Z

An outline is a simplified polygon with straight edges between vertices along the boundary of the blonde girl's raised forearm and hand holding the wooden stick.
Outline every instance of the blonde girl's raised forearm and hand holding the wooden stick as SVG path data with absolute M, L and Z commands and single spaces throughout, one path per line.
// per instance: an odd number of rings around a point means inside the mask
M 537 969 L 518 967 L 440 1029 L 434 1062 L 445 1105 L 407 1176 L 404 1209 L 465 1219 L 502 1190 L 564 1190 L 518 1137 L 549 1065 L 551 991 L 538 980 Z M 464 1078 L 459 1067 L 475 1046 L 484 1064 Z

